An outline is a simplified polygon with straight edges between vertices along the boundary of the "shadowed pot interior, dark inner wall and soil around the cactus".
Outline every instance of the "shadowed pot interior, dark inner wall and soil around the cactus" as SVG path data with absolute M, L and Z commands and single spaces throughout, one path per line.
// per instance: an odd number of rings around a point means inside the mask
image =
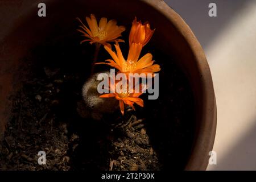
M 195 85 L 188 76 L 194 75 L 192 79 L 196 80 L 195 75 L 199 73 L 192 64 L 191 49 L 179 31 L 159 11 L 143 2 L 72 1 L 70 5 L 55 1 L 46 4 L 46 18 L 35 16 L 37 9 L 29 11 L 18 20 L 18 26 L 4 42 L 0 80 L 4 119 L 1 120 L 7 121 L 2 123 L 6 125 L 7 142 L 2 144 L 5 162 L 0 166 L 15 169 L 15 164 L 19 164 L 19 169 L 31 169 L 35 163 L 30 159 L 35 158 L 39 150 L 46 150 L 51 155 L 48 169 L 108 170 L 113 160 L 117 161 L 113 169 L 132 169 L 133 166 L 152 170 L 185 169 L 199 117 Z M 143 97 L 145 106 L 136 107 L 136 111 L 124 117 L 120 117 L 119 110 L 105 115 L 102 121 L 80 117 L 77 103 L 82 100 L 82 85 L 90 76 L 94 45 L 80 44 L 82 37 L 76 31 L 79 22 L 75 18 L 85 22 L 85 16 L 91 13 L 97 19 L 102 16 L 116 19 L 118 25 L 126 27 L 122 34 L 126 43 L 120 43 L 124 57 L 129 51 L 128 36 L 135 16 L 143 22 L 148 20 L 151 27 L 156 28 L 141 56 L 151 52 L 156 64 L 160 64 L 158 100 Z M 110 59 L 110 55 L 101 47 L 98 60 L 106 59 Z M 109 67 L 98 65 L 96 71 L 106 68 Z M 114 127 L 129 119 L 143 119 L 143 122 L 128 130 Z M 127 148 L 122 149 L 122 145 Z M 133 147 L 137 151 L 133 152 Z M 20 155 L 6 158 L 16 151 Z M 33 165 L 32 168 L 43 169 Z

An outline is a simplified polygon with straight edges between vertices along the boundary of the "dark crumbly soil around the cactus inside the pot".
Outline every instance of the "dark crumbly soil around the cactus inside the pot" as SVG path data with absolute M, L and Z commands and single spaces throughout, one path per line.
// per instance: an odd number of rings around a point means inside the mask
M 143 96 L 143 108 L 94 121 L 76 110 L 94 47 L 79 40 L 49 38 L 24 59 L 28 76 L 10 98 L 0 170 L 184 169 L 193 142 L 193 96 L 171 57 L 147 49 L 162 68 L 158 100 Z M 107 58 L 101 49 L 99 60 Z M 39 151 L 46 152 L 46 165 L 38 164 Z

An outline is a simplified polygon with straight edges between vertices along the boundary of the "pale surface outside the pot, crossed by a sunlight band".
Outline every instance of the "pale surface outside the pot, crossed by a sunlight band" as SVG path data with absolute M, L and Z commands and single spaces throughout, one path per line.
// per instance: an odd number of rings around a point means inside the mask
M 217 5 L 217 17 L 208 5 Z M 256 170 L 256 1 L 166 0 L 191 27 L 204 48 L 217 101 L 208 170 Z

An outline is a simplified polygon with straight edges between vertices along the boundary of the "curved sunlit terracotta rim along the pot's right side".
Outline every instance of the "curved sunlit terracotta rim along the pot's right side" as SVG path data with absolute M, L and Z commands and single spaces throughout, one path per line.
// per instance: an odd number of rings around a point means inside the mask
M 187 41 L 196 60 L 197 69 L 203 85 L 203 106 L 201 126 L 193 143 L 193 149 L 185 170 L 205 170 L 208 166 L 209 152 L 212 151 L 217 125 L 217 107 L 212 76 L 208 61 L 201 44 L 188 24 L 170 6 L 162 0 L 140 0 L 163 14 Z

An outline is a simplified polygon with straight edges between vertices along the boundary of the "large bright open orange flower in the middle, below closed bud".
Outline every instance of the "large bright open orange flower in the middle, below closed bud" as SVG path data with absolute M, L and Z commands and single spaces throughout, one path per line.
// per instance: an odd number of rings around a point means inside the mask
M 119 44 L 116 43 L 114 46 L 117 53 L 112 51 L 112 49 L 107 46 L 104 47 L 106 51 L 108 51 L 109 54 L 112 56 L 113 60 L 108 59 L 106 60 L 108 63 L 96 63 L 96 64 L 108 64 L 114 68 L 117 68 L 122 73 L 141 74 L 141 73 L 155 73 L 160 71 L 160 66 L 158 64 L 154 64 L 154 61 L 152 61 L 151 53 L 147 53 L 146 55 L 141 57 L 141 59 L 139 59 L 142 44 L 140 43 L 131 44 L 127 60 L 123 58 L 122 51 L 119 47 Z

